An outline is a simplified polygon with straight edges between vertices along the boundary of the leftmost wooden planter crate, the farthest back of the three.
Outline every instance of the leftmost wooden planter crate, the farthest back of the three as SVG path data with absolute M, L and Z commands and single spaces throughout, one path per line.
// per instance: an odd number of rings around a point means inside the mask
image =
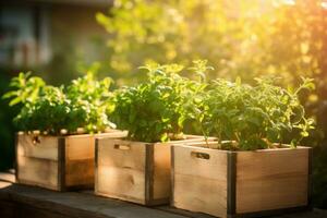
M 69 136 L 16 135 L 16 182 L 56 191 L 94 185 L 95 138 L 125 132 Z

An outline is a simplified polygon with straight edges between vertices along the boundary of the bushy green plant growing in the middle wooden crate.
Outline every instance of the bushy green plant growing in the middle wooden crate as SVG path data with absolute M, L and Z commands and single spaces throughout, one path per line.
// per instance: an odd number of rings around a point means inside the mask
M 199 66 L 195 66 L 198 69 Z M 196 93 L 204 86 L 179 75 L 182 65 L 146 65 L 148 80 L 116 93 L 110 114 L 119 129 L 141 142 L 166 142 L 183 137 L 185 120 L 195 118 Z

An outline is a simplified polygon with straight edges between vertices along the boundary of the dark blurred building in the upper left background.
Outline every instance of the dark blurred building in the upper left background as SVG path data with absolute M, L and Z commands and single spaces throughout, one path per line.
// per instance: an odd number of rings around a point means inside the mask
M 1 69 L 56 65 L 76 52 L 95 59 L 97 52 L 92 40 L 106 35 L 95 14 L 107 11 L 111 3 L 111 0 L 2 0 Z

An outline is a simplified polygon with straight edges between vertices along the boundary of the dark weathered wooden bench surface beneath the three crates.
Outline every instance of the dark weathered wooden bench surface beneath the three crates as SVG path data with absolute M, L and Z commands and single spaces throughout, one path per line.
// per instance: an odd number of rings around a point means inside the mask
M 2 218 L 211 218 L 169 206 L 144 207 L 95 196 L 93 191 L 55 192 L 14 183 L 13 172 L 0 172 L 0 217 Z M 327 211 L 289 214 L 280 218 L 327 218 Z

